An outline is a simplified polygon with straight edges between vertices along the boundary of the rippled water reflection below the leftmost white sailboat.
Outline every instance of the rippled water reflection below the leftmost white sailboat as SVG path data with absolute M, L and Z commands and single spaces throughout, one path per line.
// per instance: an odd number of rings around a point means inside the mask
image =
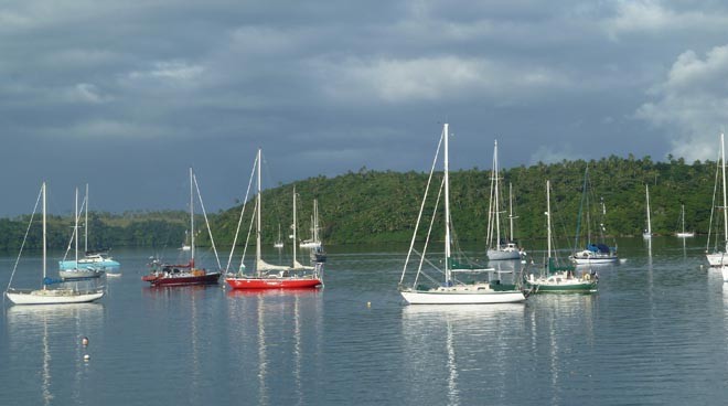
M 38 391 L 23 398 L 32 405 L 73 404 L 73 399 L 88 398 L 95 388 L 86 385 L 84 368 L 84 334 L 96 335 L 103 328 L 104 306 L 76 303 L 64 306 L 28 304 L 8 308 L 9 354 L 4 368 L 11 375 L 38 382 Z M 73 328 L 75 325 L 75 329 Z M 78 343 L 68 352 L 68 343 Z M 22 356 L 22 360 L 18 359 Z M 69 371 L 73 366 L 73 371 Z M 53 377 L 57 376 L 54 381 Z M 20 399 L 17 399 L 20 400 Z M 21 402 L 21 403 L 22 403 Z

